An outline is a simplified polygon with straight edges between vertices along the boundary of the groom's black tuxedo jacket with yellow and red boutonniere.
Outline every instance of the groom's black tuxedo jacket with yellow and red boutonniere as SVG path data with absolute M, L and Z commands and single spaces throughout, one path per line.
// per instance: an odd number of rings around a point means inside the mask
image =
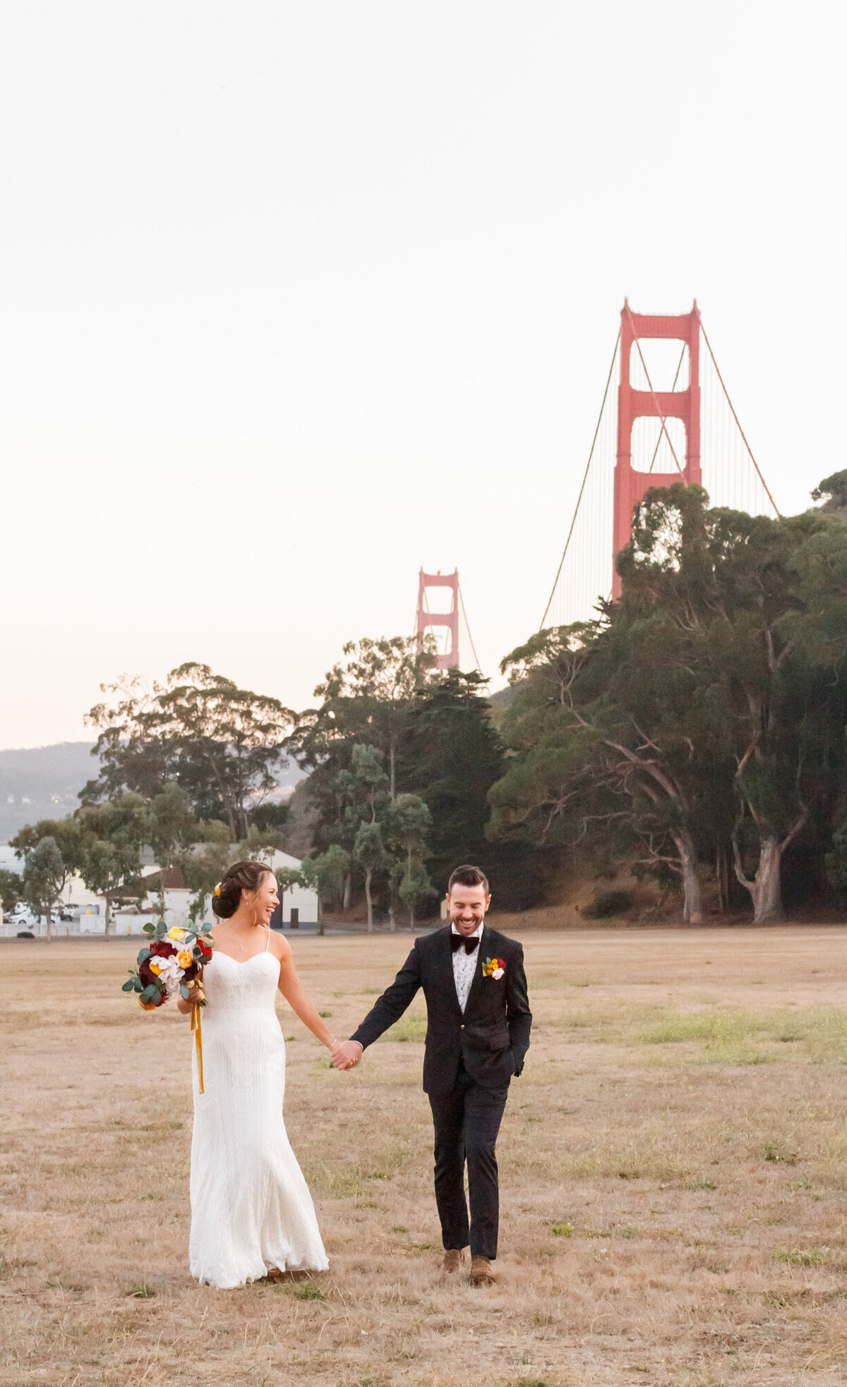
M 501 978 L 485 978 L 486 958 L 503 958 Z M 476 1083 L 487 1089 L 508 1086 L 521 1074 L 529 1049 L 532 1013 L 526 999 L 523 949 L 497 929 L 482 928 L 476 946 L 476 971 L 462 1015 L 453 976 L 450 925 L 421 935 L 403 968 L 362 1021 L 351 1040 L 367 1049 L 397 1021 L 418 988 L 426 997 L 424 1090 L 439 1097 L 455 1085 L 460 1057 Z

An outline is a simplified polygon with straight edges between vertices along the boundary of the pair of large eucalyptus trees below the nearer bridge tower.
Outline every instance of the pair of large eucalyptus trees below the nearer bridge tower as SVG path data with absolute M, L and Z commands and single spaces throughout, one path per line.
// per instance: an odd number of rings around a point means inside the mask
M 515 756 L 493 832 L 594 852 L 603 834 L 676 872 L 690 921 L 698 861 L 729 850 L 754 917 L 779 918 L 783 854 L 844 793 L 847 527 L 653 488 L 618 573 L 621 601 L 596 621 L 504 660 Z

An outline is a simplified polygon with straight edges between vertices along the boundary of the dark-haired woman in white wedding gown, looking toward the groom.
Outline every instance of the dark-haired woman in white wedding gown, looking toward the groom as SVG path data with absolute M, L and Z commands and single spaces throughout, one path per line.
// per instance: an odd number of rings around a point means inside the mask
M 215 950 L 192 997 L 203 1008 L 204 1093 L 194 1061 L 192 1276 L 221 1290 L 285 1270 L 329 1265 L 314 1205 L 285 1130 L 285 1040 L 276 989 L 333 1053 L 337 1040 L 305 996 L 287 939 L 269 920 L 279 903 L 262 863 L 235 863 L 212 897 Z

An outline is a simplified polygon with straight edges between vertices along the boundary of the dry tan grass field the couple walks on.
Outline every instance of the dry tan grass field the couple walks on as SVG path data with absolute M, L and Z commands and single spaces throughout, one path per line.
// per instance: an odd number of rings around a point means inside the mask
M 0 947 L 0 1383 L 843 1383 L 847 931 L 523 942 L 496 1290 L 439 1280 L 422 1007 L 349 1075 L 283 1017 L 330 1270 L 214 1291 L 187 1273 L 187 1022 L 119 993 L 129 942 Z M 407 947 L 294 945 L 339 1033 Z

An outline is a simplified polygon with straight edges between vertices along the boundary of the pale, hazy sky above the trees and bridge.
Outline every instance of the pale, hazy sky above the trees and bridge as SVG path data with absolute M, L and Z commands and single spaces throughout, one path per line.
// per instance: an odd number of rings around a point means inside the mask
M 494 674 L 625 295 L 697 298 L 803 509 L 847 466 L 843 15 L 6 6 L 0 746 L 187 659 L 307 706 L 346 639 L 411 630 L 421 565 L 458 565 Z

